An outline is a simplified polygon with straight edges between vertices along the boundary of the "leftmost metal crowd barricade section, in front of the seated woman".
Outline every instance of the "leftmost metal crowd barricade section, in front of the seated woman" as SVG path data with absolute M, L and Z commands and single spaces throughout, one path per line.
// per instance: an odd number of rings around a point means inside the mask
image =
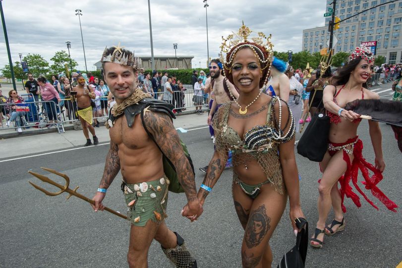
M 47 109 L 45 108 L 45 104 L 50 103 L 50 112 L 56 112 L 56 119 L 57 123 L 50 123 L 49 117 L 47 115 Z M 15 106 L 15 109 L 12 109 L 12 106 Z M 37 107 L 40 106 L 41 110 L 38 111 Z M 64 133 L 64 128 L 61 121 L 60 114 L 57 113 L 59 110 L 58 103 L 56 104 L 54 101 L 31 101 L 28 100 L 23 103 L 4 103 L 0 104 L 0 111 L 6 112 L 10 116 L 13 116 L 13 113 L 17 113 L 17 118 L 10 123 L 9 126 L 3 123 L 1 125 L 0 131 L 7 130 L 7 129 L 28 129 L 28 128 L 38 128 L 44 129 L 49 126 L 55 125 L 58 134 Z M 12 111 L 11 110 L 15 110 Z M 4 115 L 5 116 L 5 115 Z M 8 120 L 8 117 L 7 117 Z M 19 124 L 17 124 L 19 122 Z M 19 126 L 18 126 L 19 125 Z

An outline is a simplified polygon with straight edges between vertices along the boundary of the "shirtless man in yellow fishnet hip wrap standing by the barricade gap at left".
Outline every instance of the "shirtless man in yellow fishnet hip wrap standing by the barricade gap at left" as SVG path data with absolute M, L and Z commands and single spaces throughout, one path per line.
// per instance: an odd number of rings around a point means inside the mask
M 77 76 L 77 86 L 73 87 L 73 91 L 70 92 L 71 101 L 77 102 L 77 114 L 78 119 L 81 122 L 82 132 L 84 133 L 87 142 L 84 146 L 92 145 L 89 138 L 88 131 L 92 134 L 94 144 L 99 143 L 98 137 L 95 134 L 95 129 L 92 126 L 92 100 L 95 100 L 94 89 L 86 84 L 85 78 L 82 75 Z

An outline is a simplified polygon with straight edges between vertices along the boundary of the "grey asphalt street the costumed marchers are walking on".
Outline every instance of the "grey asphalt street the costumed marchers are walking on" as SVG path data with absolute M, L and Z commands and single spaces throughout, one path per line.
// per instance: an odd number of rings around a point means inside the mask
M 386 89 L 380 88 L 377 92 Z M 388 97 L 385 95 L 391 92 L 379 93 L 385 98 Z M 206 118 L 205 114 L 201 116 Z M 401 206 L 401 152 L 391 128 L 381 124 L 381 129 L 387 167 L 384 180 L 378 186 Z M 367 121 L 363 120 L 360 124 L 358 134 L 366 145 L 363 155 L 369 162 L 374 162 Z M 38 143 L 46 144 L 46 140 L 41 140 L 40 136 L 36 136 Z M 198 168 L 208 164 L 213 154 L 213 143 L 209 138 L 208 129 L 195 129 L 181 133 L 180 136 L 187 144 L 193 159 L 196 185 L 199 187 L 203 174 Z M 297 134 L 296 138 L 299 137 L 300 134 Z M 32 157 L 22 159 L 10 158 L 13 159 L 10 161 L 2 161 L 8 158 L 0 158 L 0 267 L 127 267 L 130 227 L 127 221 L 108 212 L 95 213 L 88 203 L 75 197 L 66 201 L 67 194 L 57 197 L 45 196 L 28 184 L 29 180 L 50 191 L 57 191 L 27 173 L 32 170 L 47 174 L 63 183 L 61 178 L 39 168 L 50 167 L 69 176 L 70 188 L 79 186 L 79 193 L 92 198 L 103 172 L 107 150 L 107 145 L 98 145 L 37 156 L 33 154 Z M 46 148 L 43 151 L 46 152 Z M 301 176 L 302 209 L 312 234 L 318 219 L 317 181 L 321 174 L 317 163 L 297 154 L 296 160 Z M 126 206 L 120 182 L 119 174 L 104 203 L 125 213 Z M 402 261 L 401 209 L 398 209 L 397 213 L 389 211 L 364 190 L 364 187 L 362 189 L 380 209 L 377 211 L 362 197 L 360 208 L 350 199 L 346 199 L 345 231 L 334 237 L 326 236 L 322 249 L 309 247 L 306 267 L 389 268 L 396 267 Z M 166 222 L 186 240 L 199 267 L 241 267 L 240 248 L 244 231 L 235 214 L 231 197 L 231 171 L 224 171 L 208 196 L 204 213 L 197 222 L 190 223 L 180 216 L 180 210 L 185 203 L 183 194 L 170 193 L 169 217 Z M 274 253 L 274 267 L 282 255 L 295 244 L 288 212 L 286 209 L 270 242 Z M 330 219 L 332 213 L 329 221 Z M 171 267 L 156 242 L 151 245 L 148 260 L 149 267 Z

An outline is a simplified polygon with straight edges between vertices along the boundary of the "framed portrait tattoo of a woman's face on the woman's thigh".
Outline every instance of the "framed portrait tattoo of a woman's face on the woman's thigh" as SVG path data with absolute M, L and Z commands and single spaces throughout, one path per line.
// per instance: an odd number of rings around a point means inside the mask
M 249 249 L 260 244 L 268 230 L 271 229 L 270 221 L 271 218 L 267 216 L 264 204 L 251 212 L 244 236 Z

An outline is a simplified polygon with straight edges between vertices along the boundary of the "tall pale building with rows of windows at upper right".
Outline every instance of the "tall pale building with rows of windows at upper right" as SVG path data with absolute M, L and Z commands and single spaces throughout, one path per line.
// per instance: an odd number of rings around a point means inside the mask
M 339 0 L 335 16 L 342 20 L 387 2 L 389 0 Z M 332 0 L 326 1 L 326 7 L 326 10 L 333 7 Z M 331 17 L 325 18 L 324 27 L 303 30 L 302 50 L 314 53 L 320 51 L 320 47 L 328 47 L 330 20 Z M 338 40 L 334 50 L 350 53 L 361 42 L 377 41 L 376 55 L 386 57 L 387 64 L 402 63 L 401 28 L 402 1 L 387 3 L 341 22 L 340 28 L 334 30 L 334 37 Z

